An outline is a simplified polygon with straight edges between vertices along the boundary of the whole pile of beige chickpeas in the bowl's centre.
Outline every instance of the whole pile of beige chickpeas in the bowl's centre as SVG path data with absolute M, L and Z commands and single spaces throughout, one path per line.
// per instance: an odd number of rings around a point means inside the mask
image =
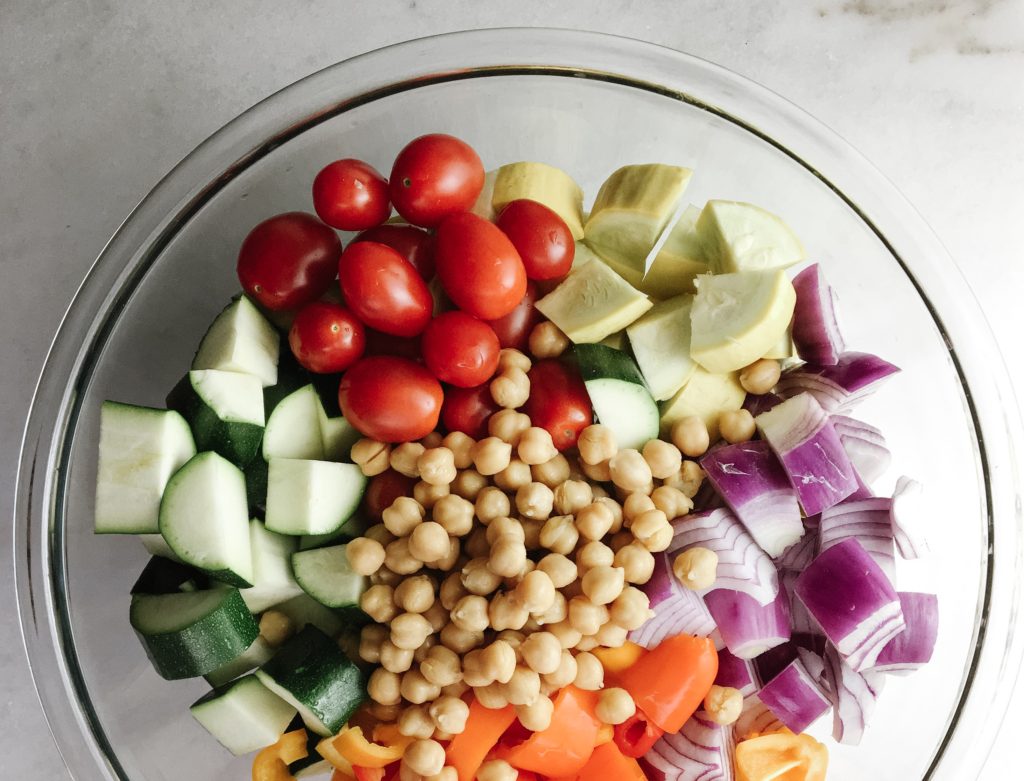
M 529 339 L 538 357 L 567 344 L 547 322 Z M 672 441 L 637 450 L 620 449 L 610 429 L 595 424 L 582 432 L 578 452 L 560 453 L 545 429 L 516 411 L 529 395 L 530 365 L 525 354 L 502 351 L 490 390 L 503 408 L 479 441 L 435 432 L 419 442 L 362 439 L 352 447 L 368 476 L 393 469 L 419 480 L 412 496 L 396 498 L 347 547 L 352 570 L 371 581 L 359 604 L 374 622 L 362 630 L 358 655 L 377 665 L 368 683 L 374 714 L 415 739 L 402 781 L 454 781 L 439 741 L 465 729 L 462 696 L 470 689 L 484 707 L 515 706 L 535 732 L 551 723 L 550 695 L 569 684 L 600 691 L 605 724 L 636 710 L 625 690 L 604 687 L 592 652 L 622 646 L 652 615 L 639 587 L 651 577 L 654 554 L 671 545 L 671 521 L 693 507 L 703 473 L 689 459 L 708 449 L 708 428 L 687 418 Z M 767 381 L 764 366 L 748 374 Z M 723 414 L 719 427 L 728 441 L 743 441 L 753 423 L 739 410 Z M 717 563 L 714 552 L 691 549 L 673 571 L 688 588 L 706 589 Z M 477 774 L 516 777 L 502 761 Z

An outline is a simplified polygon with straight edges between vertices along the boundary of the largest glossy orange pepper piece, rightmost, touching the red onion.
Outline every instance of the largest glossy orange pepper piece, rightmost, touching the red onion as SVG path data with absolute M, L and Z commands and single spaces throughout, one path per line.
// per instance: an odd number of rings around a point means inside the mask
M 708 638 L 667 638 L 618 675 L 637 708 L 666 732 L 679 732 L 696 712 L 718 675 L 718 652 Z

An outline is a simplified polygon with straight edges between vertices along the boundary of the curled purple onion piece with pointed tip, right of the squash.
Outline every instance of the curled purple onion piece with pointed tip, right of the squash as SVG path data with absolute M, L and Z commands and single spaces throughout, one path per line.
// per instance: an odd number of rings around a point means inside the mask
M 775 392 L 783 398 L 810 393 L 826 413 L 847 413 L 899 368 L 878 355 L 845 352 L 834 366 L 810 363 L 782 373 Z

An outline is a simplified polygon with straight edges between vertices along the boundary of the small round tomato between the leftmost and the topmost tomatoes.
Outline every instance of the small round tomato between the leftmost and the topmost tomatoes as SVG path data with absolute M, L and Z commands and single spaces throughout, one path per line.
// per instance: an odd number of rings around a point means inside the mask
M 313 179 L 313 209 L 339 230 L 365 230 L 391 216 L 387 179 L 361 160 L 336 160 Z

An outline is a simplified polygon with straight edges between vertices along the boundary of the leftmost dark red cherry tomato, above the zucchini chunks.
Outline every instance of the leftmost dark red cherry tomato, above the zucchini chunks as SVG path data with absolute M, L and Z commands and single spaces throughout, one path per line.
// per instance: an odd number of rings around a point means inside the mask
M 239 250 L 242 288 L 267 309 L 295 309 L 319 298 L 338 272 L 341 240 L 311 214 L 263 220 Z

